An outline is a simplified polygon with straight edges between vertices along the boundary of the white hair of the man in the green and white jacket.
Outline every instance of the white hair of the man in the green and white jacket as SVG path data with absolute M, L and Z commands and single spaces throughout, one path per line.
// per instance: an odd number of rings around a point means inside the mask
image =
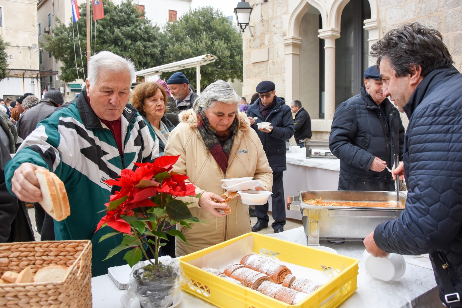
M 130 79 L 136 77 L 135 66 L 132 60 L 123 58 L 110 51 L 104 50 L 90 57 L 88 61 L 88 81 L 90 85 L 94 85 L 98 81 L 98 73 L 101 71 L 109 71 L 113 73 L 128 72 Z

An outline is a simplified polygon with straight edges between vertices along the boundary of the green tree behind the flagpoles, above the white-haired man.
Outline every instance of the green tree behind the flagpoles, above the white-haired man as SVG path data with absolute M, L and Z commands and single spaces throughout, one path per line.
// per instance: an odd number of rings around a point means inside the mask
M 80 20 L 80 47 L 82 50 L 83 64 L 80 59 L 79 40 L 77 25 L 71 21 L 63 24 L 59 20 L 58 26 L 53 29 L 53 35 L 45 36 L 46 42 L 41 44 L 45 51 L 51 51 L 56 60 L 62 61 L 61 79 L 71 82 L 77 79 L 75 69 L 75 56 L 73 46 L 73 28 L 75 52 L 77 54 L 77 66 L 79 77 L 83 78 L 85 69 L 86 76 L 86 5 L 79 6 Z M 137 70 L 157 66 L 162 57 L 164 35 L 157 25 L 152 25 L 147 18 L 140 18 L 143 13 L 138 11 L 132 1 L 123 1 L 121 5 L 115 5 L 111 1 L 104 1 L 104 18 L 96 22 L 96 52 L 109 50 L 115 54 L 125 56 L 134 61 Z M 92 26 L 94 28 L 94 22 Z M 91 38 L 91 54 L 94 54 L 95 39 L 94 31 Z

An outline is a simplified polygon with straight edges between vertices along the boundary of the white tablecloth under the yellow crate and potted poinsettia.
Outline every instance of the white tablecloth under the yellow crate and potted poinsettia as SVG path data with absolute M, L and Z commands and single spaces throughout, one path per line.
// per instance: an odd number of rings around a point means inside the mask
M 292 242 L 306 245 L 303 227 L 287 230 L 281 235 L 288 236 Z M 346 242 L 335 245 L 321 241 L 322 246 L 337 250 L 339 254 L 360 260 L 358 274 L 358 290 L 344 302 L 342 308 L 443 308 L 438 297 L 435 278 L 430 260 L 423 257 L 405 256 L 406 272 L 403 277 L 384 282 L 369 276 L 364 269 L 362 242 Z M 123 291 L 118 290 L 108 275 L 91 279 L 93 308 L 122 308 L 120 296 Z M 187 292 L 182 292 L 183 300 L 176 306 L 179 308 L 215 307 Z

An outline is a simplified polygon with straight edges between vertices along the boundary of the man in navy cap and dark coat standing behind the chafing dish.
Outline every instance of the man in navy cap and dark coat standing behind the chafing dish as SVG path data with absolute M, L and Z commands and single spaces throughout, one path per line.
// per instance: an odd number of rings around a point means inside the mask
M 337 107 L 330 151 L 340 159 L 338 190 L 395 191 L 393 155 L 403 157 L 404 127 L 398 109 L 382 94 L 377 66 L 364 72 L 358 94 Z

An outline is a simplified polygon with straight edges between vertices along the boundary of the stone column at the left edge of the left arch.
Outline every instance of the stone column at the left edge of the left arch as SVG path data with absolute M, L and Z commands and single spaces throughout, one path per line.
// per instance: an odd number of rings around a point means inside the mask
M 299 58 L 301 42 L 302 38 L 299 36 L 284 38 L 284 53 L 286 54 L 286 103 L 290 103 L 293 98 L 299 97 Z

